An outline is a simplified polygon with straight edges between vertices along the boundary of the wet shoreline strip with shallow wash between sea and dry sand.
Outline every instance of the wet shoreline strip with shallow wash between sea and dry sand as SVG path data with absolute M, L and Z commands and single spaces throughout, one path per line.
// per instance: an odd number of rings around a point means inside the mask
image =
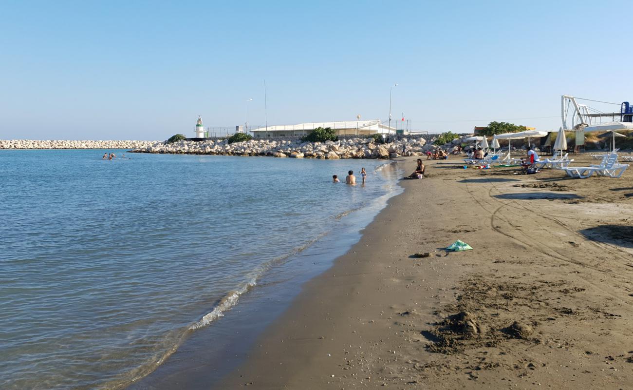
M 360 209 L 335 217 L 327 235 L 299 250 L 281 267 L 266 272 L 247 294 L 240 296 L 239 303 L 223 313 L 223 318 L 190 332 L 152 372 L 122 388 L 172 389 L 191 384 L 192 377 L 198 383 L 217 382 L 241 364 L 256 337 L 292 304 L 301 285 L 329 269 L 338 257 L 348 252 L 389 199 L 402 192 L 396 179 L 402 174 L 398 162 L 384 162 L 375 172 L 385 177 L 382 185 L 390 188 L 387 193 Z

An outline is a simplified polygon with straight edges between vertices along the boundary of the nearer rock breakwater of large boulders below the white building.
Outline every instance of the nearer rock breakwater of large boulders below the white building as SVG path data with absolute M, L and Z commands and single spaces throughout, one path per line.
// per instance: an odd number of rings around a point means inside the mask
M 462 142 L 461 138 L 442 145 L 451 150 Z M 424 138 L 401 138 L 392 143 L 375 143 L 373 138 L 350 138 L 348 140 L 303 142 L 250 140 L 229 144 L 223 141 L 179 141 L 156 143 L 137 148 L 137 153 L 175 153 L 238 156 L 294 157 L 296 159 L 389 159 L 401 156 L 420 156 L 437 146 Z

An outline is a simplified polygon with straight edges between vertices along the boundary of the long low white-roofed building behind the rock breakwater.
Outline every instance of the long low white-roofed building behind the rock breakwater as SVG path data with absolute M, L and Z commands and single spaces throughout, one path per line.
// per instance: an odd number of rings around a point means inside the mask
M 353 120 L 344 122 L 314 122 L 291 125 L 259 127 L 251 130 L 254 138 L 306 136 L 317 127 L 330 127 L 337 136 L 368 136 L 369 134 L 396 133 L 395 127 L 385 126 L 379 119 Z

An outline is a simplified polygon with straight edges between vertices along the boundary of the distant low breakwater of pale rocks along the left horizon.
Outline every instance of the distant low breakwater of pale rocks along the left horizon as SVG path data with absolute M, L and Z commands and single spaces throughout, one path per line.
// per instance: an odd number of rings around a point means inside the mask
M 159 141 L 0 140 L 0 149 L 137 149 Z

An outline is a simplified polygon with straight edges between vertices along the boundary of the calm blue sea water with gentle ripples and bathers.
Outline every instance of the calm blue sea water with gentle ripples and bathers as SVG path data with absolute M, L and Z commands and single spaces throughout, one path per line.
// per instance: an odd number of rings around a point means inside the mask
M 2 389 L 151 372 L 395 188 L 377 160 L 104 152 L 0 151 Z M 363 166 L 366 186 L 330 182 Z

